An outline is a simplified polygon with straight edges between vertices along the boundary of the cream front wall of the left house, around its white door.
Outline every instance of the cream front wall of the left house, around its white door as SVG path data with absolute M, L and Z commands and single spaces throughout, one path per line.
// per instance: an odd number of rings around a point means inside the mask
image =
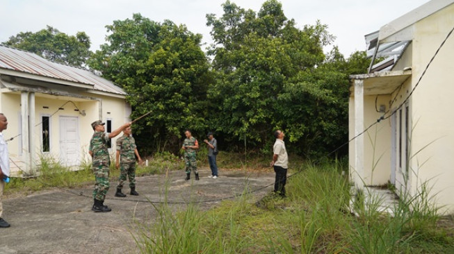
M 80 162 L 91 162 L 91 158 L 88 155 L 88 146 L 90 139 L 93 135 L 91 127 L 92 121 L 99 119 L 100 110 L 102 107 L 102 120 L 112 119 L 113 130 L 124 124 L 127 117 L 130 114 L 129 106 L 126 106 L 124 99 L 99 96 L 98 94 L 86 94 L 92 97 L 97 96 L 99 99 L 79 99 L 69 96 L 50 96 L 49 94 L 35 93 L 35 126 L 33 128 L 33 139 L 35 141 L 35 152 L 36 164 L 39 164 L 40 158 L 48 157 L 56 160 L 60 159 L 60 117 L 77 117 L 78 119 L 78 130 L 79 130 L 79 158 Z M 67 101 L 73 101 L 67 102 Z M 66 104 L 65 104 L 66 103 Z M 65 105 L 64 105 L 65 104 Z M 58 108 L 63 108 L 58 110 Z M 76 111 L 78 108 L 80 111 Z M 17 93 L 1 93 L 0 94 L 0 112 L 3 112 L 8 118 L 8 129 L 3 131 L 5 138 L 13 137 L 21 133 L 20 130 L 20 94 Z M 80 113 L 84 111 L 85 116 Z M 49 116 L 50 118 L 50 151 L 42 151 L 42 116 Z M 121 135 L 121 134 L 120 134 Z M 20 162 L 20 136 L 8 142 L 8 149 L 10 151 L 10 157 L 18 163 L 18 166 L 25 169 L 24 164 Z M 113 139 L 112 153 L 115 153 L 115 139 Z M 12 170 L 15 171 L 14 164 Z M 17 171 L 17 170 L 16 170 Z M 20 174 L 20 173 L 19 173 Z

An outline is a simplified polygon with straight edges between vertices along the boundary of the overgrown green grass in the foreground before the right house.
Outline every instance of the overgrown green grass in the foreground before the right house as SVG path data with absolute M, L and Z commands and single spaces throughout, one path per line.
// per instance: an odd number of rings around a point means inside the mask
M 155 206 L 159 215 L 137 244 L 142 253 L 454 253 L 453 218 L 438 223 L 427 187 L 403 198 L 394 217 L 380 212 L 380 198 L 357 205 L 355 217 L 343 170 L 306 164 L 284 199 L 243 194 L 208 211 Z

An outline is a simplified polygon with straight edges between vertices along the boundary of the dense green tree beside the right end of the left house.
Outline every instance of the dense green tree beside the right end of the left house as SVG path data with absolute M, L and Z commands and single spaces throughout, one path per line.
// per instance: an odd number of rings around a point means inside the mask
M 209 62 L 200 49 L 202 35 L 166 20 L 140 14 L 106 26 L 108 43 L 89 61 L 90 67 L 128 93 L 131 118 L 152 110 L 135 127 L 138 143 L 154 149 L 179 149 L 185 128 L 204 132 Z M 150 139 L 152 137 L 152 139 Z

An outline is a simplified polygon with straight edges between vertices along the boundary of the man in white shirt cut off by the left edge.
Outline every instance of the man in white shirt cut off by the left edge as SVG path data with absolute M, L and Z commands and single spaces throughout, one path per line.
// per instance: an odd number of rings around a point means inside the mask
M 8 228 L 10 224 L 4 219 L 1 219 L 1 214 L 3 213 L 3 207 L 1 205 L 1 196 L 3 195 L 3 188 L 5 187 L 5 182 L 3 178 L 10 176 L 10 160 L 8 158 L 8 146 L 6 146 L 5 139 L 3 139 L 3 130 L 8 128 L 8 119 L 5 115 L 0 113 L 0 228 Z

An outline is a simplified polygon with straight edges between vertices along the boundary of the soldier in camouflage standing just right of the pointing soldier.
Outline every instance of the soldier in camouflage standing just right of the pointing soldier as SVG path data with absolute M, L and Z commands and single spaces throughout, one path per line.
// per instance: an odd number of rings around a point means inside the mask
M 137 151 L 136 141 L 131 136 L 131 127 L 127 127 L 123 130 L 122 137 L 117 139 L 117 163 L 115 166 L 117 168 L 120 167 L 120 178 L 115 196 L 126 196 L 122 193 L 122 187 L 127 176 L 129 178 L 129 188 L 131 188 L 131 192 L 129 192 L 129 194 L 134 196 L 139 195 L 136 192 L 136 156 L 139 163 L 142 163 L 142 158 L 140 158 Z

